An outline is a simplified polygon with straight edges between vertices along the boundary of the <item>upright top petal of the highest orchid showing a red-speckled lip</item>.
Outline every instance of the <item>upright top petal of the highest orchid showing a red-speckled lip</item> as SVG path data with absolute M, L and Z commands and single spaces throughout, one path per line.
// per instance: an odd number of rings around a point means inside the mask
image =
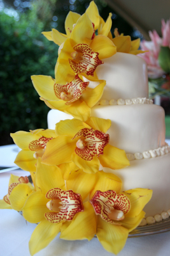
M 92 35 L 94 33 L 94 28 L 91 20 L 87 13 L 81 15 L 80 19 L 76 22 L 71 33 L 71 45 L 74 47 L 76 44 L 90 44 L 92 40 Z

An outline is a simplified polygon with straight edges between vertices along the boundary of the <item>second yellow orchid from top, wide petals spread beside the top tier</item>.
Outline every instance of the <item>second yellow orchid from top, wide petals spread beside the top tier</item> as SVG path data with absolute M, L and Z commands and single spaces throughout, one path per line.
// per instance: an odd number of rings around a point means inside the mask
M 85 83 L 78 75 L 74 75 L 70 83 L 59 84 L 50 76 L 32 76 L 32 83 L 38 92 L 40 99 L 52 109 L 59 109 L 74 118 L 87 120 L 92 108 L 103 95 L 106 81 L 97 81 L 96 88 L 88 88 L 89 82 Z

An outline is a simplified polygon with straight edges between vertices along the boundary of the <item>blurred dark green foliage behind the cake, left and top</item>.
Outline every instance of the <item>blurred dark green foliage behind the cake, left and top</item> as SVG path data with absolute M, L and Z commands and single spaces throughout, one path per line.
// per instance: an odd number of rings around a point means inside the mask
M 134 30 L 103 0 L 95 1 L 101 16 L 113 13 L 113 29 L 132 35 Z M 90 0 L 36 0 L 31 10 L 20 11 L 18 19 L 0 12 L 0 145 L 13 143 L 10 132 L 47 128 L 48 109 L 39 100 L 31 83 L 32 75 L 54 76 L 58 46 L 41 31 L 53 27 L 65 33 L 64 20 L 69 10 L 84 13 Z M 53 21 L 53 16 L 57 21 Z M 132 36 L 132 39 L 135 37 Z

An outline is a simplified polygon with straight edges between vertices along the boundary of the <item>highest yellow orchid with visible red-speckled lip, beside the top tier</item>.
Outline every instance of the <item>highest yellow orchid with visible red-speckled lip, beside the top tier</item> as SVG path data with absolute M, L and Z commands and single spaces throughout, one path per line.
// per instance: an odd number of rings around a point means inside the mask
M 69 83 L 75 73 L 94 76 L 97 65 L 116 53 L 113 42 L 104 35 L 94 36 L 94 26 L 87 13 L 76 22 L 69 38 L 60 47 L 55 67 L 57 83 Z

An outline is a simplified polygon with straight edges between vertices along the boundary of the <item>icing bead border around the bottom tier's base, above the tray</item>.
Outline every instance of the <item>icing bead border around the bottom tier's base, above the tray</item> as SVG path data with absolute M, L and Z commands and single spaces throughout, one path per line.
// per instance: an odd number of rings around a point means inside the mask
M 156 214 L 155 216 L 148 216 L 147 218 L 143 218 L 143 220 L 139 224 L 139 227 L 151 225 L 155 222 L 158 223 L 162 220 L 167 220 L 169 217 L 170 217 L 170 209 L 160 214 Z

